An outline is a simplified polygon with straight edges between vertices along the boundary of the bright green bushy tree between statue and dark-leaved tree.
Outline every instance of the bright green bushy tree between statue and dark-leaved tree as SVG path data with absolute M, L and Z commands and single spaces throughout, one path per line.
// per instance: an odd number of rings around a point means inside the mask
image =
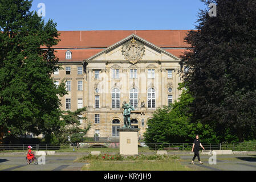
M 182 89 L 184 84 L 180 84 Z M 191 122 L 189 105 L 194 98 L 183 89 L 179 101 L 174 101 L 170 107 L 164 106 L 153 113 L 153 118 L 147 122 L 148 129 L 144 133 L 146 143 L 182 143 L 192 142 L 196 134 L 204 142 L 218 142 L 216 132 L 209 125 L 201 122 Z

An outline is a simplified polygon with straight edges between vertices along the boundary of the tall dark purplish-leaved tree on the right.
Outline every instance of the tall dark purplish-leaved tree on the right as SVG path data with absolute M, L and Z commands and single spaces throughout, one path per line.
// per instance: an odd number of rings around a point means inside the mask
M 203 2 L 216 3 L 217 16 L 200 11 L 197 30 L 185 38 L 192 48 L 182 57 L 193 121 L 218 122 L 242 142 L 255 137 L 256 1 Z

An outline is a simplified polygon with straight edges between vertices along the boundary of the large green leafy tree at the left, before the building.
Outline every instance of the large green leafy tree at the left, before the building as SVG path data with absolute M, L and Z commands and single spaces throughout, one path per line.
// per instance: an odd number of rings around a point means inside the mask
M 31 1 L 0 0 L 0 142 L 7 131 L 51 135 L 60 128 L 58 96 L 66 91 L 51 78 L 58 31 L 30 8 Z

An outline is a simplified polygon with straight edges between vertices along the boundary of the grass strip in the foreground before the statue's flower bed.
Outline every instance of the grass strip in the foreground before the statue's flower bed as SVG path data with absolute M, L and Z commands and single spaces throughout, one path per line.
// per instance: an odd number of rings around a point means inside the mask
M 192 169 L 182 166 L 177 159 L 157 161 L 121 161 L 104 162 L 91 161 L 83 166 L 84 171 L 191 171 Z

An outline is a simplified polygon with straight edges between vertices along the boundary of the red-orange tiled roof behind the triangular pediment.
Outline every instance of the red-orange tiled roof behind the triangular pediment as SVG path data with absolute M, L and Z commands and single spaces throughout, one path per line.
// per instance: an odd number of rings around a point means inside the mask
M 59 31 L 60 42 L 54 46 L 60 62 L 83 61 L 119 42 L 131 34 L 165 49 L 176 57 L 189 47 L 184 38 L 189 30 L 106 30 L 106 31 Z M 65 52 L 72 52 L 72 59 L 65 59 Z

